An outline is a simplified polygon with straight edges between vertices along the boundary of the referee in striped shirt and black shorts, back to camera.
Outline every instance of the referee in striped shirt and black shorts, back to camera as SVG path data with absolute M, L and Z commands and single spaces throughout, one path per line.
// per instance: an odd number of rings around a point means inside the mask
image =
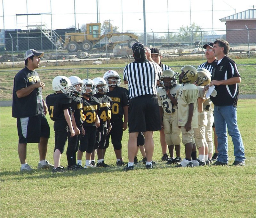
M 156 94 L 156 82 L 163 71 L 151 58 L 151 51 L 143 44 L 136 42 L 132 46 L 134 62 L 124 68 L 124 82 L 128 82 L 129 140 L 128 159 L 125 171 L 133 170 L 134 156 L 137 151 L 137 136 L 143 132 L 145 136 L 145 151 L 147 156 L 146 169 L 152 169 L 154 152 L 153 132 L 161 129 L 160 115 Z

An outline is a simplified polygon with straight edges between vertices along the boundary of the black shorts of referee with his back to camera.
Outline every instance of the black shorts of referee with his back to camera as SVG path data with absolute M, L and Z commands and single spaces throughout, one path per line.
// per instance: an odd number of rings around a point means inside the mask
M 156 95 L 132 98 L 128 109 L 129 133 L 157 131 L 161 129 Z

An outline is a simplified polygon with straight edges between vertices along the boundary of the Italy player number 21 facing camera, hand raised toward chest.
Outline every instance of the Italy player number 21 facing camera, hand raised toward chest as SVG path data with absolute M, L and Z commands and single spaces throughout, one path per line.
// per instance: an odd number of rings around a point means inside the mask
M 181 130 L 177 125 L 175 98 L 180 84 L 177 84 L 174 78 L 174 71 L 167 69 L 160 76 L 160 87 L 157 88 L 157 98 L 159 105 L 159 113 L 161 117 L 161 126 L 164 130 L 165 142 L 168 145 L 170 159 L 167 164 L 180 163 L 180 133 Z M 173 150 L 175 146 L 176 158 L 174 158 Z M 163 160 L 163 159 L 162 159 Z

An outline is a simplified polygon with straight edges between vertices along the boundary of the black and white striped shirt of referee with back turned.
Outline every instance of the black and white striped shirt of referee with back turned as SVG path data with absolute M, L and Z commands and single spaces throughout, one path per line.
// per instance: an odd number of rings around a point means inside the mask
M 129 97 L 141 95 L 156 95 L 156 82 L 163 73 L 161 67 L 155 62 L 132 62 L 124 68 L 124 81 L 129 84 Z

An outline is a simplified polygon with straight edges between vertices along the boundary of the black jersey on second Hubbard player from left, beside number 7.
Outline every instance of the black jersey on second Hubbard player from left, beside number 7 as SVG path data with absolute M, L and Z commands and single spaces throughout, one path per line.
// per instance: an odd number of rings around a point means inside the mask
M 74 112 L 74 117 L 76 121 L 76 126 L 84 123 L 84 113 L 83 113 L 83 99 L 78 95 L 72 96 L 71 110 Z

